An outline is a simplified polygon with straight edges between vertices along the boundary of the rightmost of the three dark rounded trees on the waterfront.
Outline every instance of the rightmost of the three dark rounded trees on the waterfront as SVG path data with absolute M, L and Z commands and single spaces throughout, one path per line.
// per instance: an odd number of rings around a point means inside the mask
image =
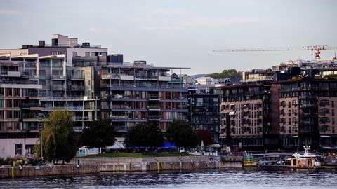
M 173 121 L 166 130 L 166 138 L 179 148 L 194 148 L 197 145 L 197 136 L 190 123 L 185 120 Z

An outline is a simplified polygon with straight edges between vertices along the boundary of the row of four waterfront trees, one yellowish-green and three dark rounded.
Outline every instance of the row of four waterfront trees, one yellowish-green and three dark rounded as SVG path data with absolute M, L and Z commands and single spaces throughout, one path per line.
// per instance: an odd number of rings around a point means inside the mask
M 50 162 L 68 162 L 76 155 L 79 146 L 103 148 L 114 144 L 116 133 L 113 125 L 107 120 L 89 123 L 80 135 L 74 132 L 73 125 L 72 113 L 53 111 L 41 131 L 41 142 L 36 144 L 35 153 Z M 193 148 L 201 140 L 189 123 L 185 120 L 175 120 L 166 130 L 165 136 L 154 123 L 137 124 L 126 132 L 124 144 L 127 148 L 161 147 L 164 145 L 164 137 L 177 147 L 185 148 Z

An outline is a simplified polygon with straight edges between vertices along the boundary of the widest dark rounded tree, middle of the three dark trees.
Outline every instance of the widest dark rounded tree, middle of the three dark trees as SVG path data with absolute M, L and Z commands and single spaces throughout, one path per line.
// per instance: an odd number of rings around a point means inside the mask
M 127 148 L 159 147 L 164 144 L 164 135 L 154 123 L 138 123 L 126 132 L 124 144 Z

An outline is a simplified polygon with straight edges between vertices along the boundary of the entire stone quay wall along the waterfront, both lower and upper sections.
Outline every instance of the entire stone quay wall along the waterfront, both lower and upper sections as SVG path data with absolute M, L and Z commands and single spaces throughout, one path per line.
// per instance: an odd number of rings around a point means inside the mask
M 242 156 L 185 156 L 152 158 L 74 158 L 67 165 L 0 167 L 0 179 L 28 176 L 95 174 L 99 172 L 148 172 L 242 167 Z

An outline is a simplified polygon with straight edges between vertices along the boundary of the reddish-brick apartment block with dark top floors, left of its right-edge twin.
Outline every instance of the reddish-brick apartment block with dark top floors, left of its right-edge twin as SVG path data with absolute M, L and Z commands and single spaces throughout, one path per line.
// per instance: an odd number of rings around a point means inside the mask
M 220 139 L 238 150 L 274 146 L 271 127 L 270 85 L 244 84 L 215 87 L 220 94 Z

